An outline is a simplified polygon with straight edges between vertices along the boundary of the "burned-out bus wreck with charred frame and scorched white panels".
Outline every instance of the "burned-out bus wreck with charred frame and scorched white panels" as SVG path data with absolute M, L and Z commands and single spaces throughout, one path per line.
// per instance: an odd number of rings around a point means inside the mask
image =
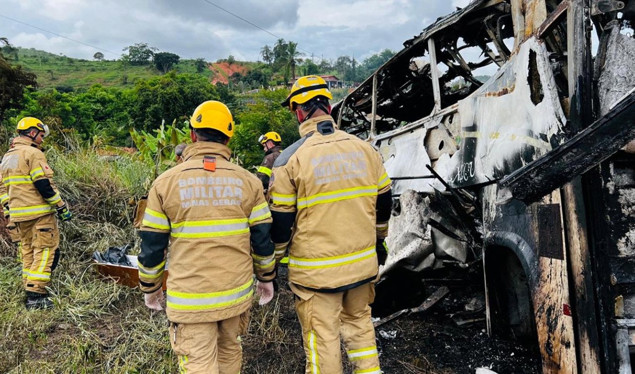
M 394 183 L 382 277 L 482 260 L 488 333 L 530 338 L 544 373 L 632 372 L 634 18 L 474 0 L 334 109 Z

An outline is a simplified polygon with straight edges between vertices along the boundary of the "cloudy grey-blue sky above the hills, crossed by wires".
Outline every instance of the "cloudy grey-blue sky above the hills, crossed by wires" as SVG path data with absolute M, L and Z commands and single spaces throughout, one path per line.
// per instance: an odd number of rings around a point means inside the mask
M 469 0 L 209 0 L 319 57 L 358 59 L 400 50 L 437 17 Z M 0 0 L 0 15 L 122 53 L 145 42 L 182 58 L 257 60 L 276 37 L 205 0 Z M 92 58 L 95 48 L 0 17 L 15 46 Z M 310 53 L 305 53 L 310 56 Z M 117 55 L 104 52 L 107 59 Z

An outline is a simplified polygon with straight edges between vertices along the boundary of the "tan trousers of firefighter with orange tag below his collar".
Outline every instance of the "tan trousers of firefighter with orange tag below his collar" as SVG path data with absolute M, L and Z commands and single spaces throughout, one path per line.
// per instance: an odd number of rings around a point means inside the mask
M 238 374 L 243 361 L 241 335 L 249 311 L 217 322 L 170 323 L 170 343 L 179 374 Z

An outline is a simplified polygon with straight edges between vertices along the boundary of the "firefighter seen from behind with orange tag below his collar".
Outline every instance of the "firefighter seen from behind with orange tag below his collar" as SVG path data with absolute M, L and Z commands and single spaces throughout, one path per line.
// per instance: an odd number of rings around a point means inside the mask
M 261 303 L 273 295 L 271 212 L 260 180 L 229 162 L 229 109 L 204 102 L 190 130 L 184 162 L 160 175 L 149 192 L 139 232 L 140 287 L 146 305 L 161 309 L 169 246 L 169 337 L 180 372 L 236 374 L 254 289 Z

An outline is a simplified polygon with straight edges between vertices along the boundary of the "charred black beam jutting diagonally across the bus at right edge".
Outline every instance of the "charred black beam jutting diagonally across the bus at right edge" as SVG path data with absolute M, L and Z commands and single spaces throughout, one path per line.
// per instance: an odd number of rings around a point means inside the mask
M 499 184 L 511 190 L 516 199 L 537 201 L 608 159 L 634 138 L 635 91 L 631 91 L 591 126 Z

